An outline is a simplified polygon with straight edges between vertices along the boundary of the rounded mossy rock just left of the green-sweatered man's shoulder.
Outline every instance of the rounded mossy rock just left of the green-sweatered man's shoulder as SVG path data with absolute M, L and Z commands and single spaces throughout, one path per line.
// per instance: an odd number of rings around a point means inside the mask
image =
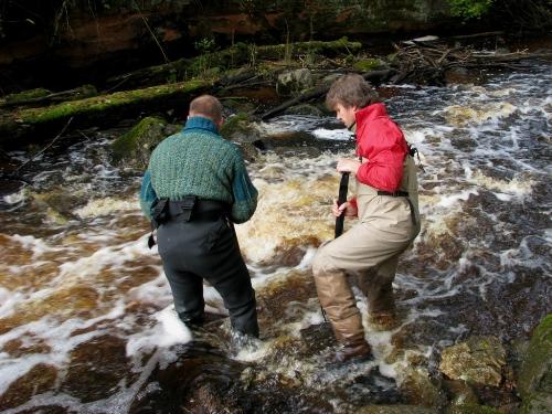
M 144 118 L 112 144 L 114 162 L 117 164 L 124 162 L 126 166 L 145 169 L 151 151 L 166 137 L 174 134 L 174 126 L 168 125 L 163 118 Z

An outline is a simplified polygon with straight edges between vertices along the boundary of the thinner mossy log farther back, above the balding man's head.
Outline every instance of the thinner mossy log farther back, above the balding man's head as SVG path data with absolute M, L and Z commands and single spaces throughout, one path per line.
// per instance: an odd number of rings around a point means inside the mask
M 219 52 L 204 53 L 192 59 L 180 59 L 171 63 L 145 67 L 112 77 L 107 81 L 107 87 L 124 91 L 205 75 L 212 70 L 222 72 L 244 64 L 255 66 L 256 62 L 262 60 L 291 60 L 307 54 L 349 55 L 359 52 L 361 47 L 360 42 L 350 42 L 347 38 L 331 42 L 311 41 L 264 46 L 236 43 L 232 47 Z

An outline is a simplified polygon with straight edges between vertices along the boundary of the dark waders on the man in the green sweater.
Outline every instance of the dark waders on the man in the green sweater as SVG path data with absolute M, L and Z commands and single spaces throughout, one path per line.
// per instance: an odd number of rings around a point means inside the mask
M 168 220 L 157 233 L 159 254 L 180 319 L 191 326 L 204 321 L 205 279 L 222 296 L 232 328 L 258 337 L 255 290 L 225 206 L 190 199 L 167 205 Z

